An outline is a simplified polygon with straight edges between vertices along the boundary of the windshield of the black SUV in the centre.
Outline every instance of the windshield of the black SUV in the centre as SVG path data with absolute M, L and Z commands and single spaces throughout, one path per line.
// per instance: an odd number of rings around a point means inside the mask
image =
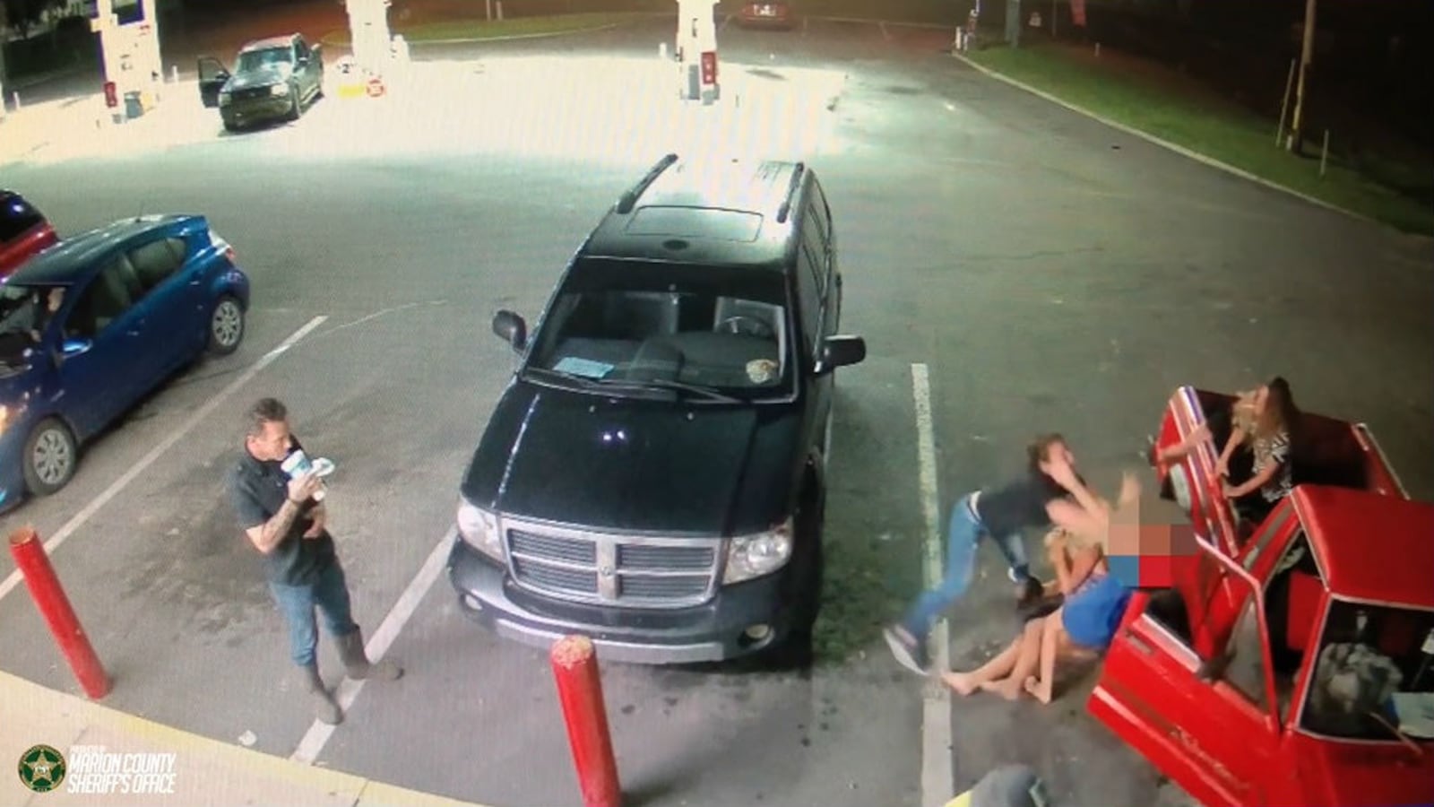
M 782 280 L 764 269 L 581 258 L 526 369 L 615 395 L 680 385 L 743 399 L 783 395 L 792 339 Z

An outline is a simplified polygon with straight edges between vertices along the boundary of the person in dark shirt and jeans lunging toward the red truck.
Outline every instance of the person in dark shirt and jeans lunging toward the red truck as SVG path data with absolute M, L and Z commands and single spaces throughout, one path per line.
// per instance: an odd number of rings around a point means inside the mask
M 1038 437 L 1027 448 L 1025 474 L 997 488 L 978 490 L 956 501 L 946 530 L 946 576 L 923 592 L 885 638 L 896 661 L 921 675 L 928 672 L 926 633 L 936 616 L 965 594 L 975 574 L 977 544 L 995 540 L 1018 586 L 1025 607 L 1041 597 L 1041 582 L 1025 560 L 1025 528 L 1064 527 L 1078 534 L 1101 534 L 1106 510 L 1076 472 L 1076 457 L 1058 434 Z

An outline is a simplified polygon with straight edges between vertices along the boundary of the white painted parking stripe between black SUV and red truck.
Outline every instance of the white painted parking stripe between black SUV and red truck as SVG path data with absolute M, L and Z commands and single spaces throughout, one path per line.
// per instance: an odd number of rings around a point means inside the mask
M 916 460 L 921 484 L 921 510 L 926 524 L 922 553 L 922 580 L 928 589 L 944 576 L 941 547 L 941 498 L 936 487 L 936 438 L 931 416 L 931 378 L 926 365 L 911 366 L 912 399 L 916 405 Z M 946 620 L 938 619 L 931 630 L 932 668 L 951 666 L 951 636 Z M 921 706 L 921 804 L 941 807 L 951 800 L 955 775 L 951 764 L 951 691 L 941 681 L 928 682 Z

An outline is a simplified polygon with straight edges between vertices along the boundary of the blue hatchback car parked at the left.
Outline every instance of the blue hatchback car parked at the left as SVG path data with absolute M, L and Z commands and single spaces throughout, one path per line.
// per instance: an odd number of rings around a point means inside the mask
M 178 369 L 232 353 L 248 306 L 204 215 L 116 221 L 0 283 L 0 510 L 65 487 L 79 448 Z

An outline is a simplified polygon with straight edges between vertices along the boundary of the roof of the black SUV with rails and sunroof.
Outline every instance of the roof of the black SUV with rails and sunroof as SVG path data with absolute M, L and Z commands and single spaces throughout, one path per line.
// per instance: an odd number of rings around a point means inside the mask
M 579 253 L 786 271 L 810 177 L 804 162 L 668 154 L 618 198 Z

